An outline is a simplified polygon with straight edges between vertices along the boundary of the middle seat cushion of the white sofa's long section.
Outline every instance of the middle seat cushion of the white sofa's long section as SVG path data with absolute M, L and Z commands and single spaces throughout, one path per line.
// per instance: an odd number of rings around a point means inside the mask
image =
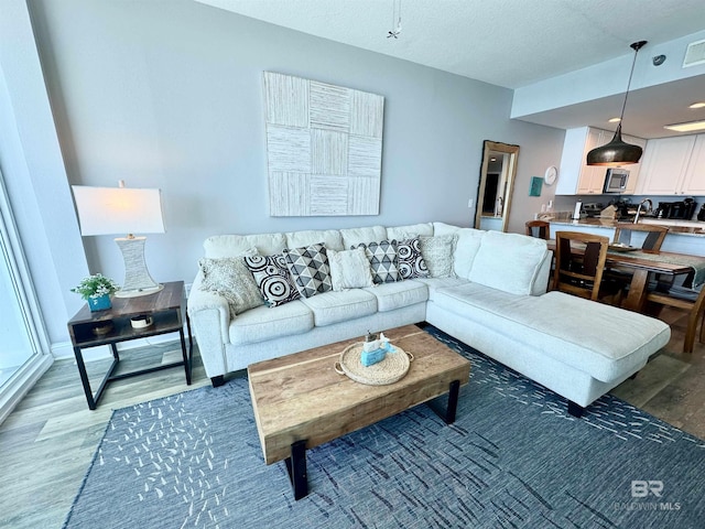
M 317 327 L 347 322 L 377 312 L 377 298 L 366 289 L 326 292 L 301 301 L 313 312 Z

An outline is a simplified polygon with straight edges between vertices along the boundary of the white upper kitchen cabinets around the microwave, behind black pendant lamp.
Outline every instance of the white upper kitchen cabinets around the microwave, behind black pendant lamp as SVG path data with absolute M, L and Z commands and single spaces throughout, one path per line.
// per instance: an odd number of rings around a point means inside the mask
M 600 195 L 605 185 L 607 168 L 604 165 L 587 165 L 587 153 L 593 149 L 608 143 L 614 132 L 609 130 L 596 129 L 593 127 L 581 127 L 565 131 L 563 143 L 563 155 L 561 156 L 561 170 L 556 184 L 556 195 Z M 623 136 L 628 143 L 646 147 L 646 140 Z M 627 191 L 623 194 L 633 194 L 638 183 L 641 164 L 634 163 L 625 165 L 629 170 Z

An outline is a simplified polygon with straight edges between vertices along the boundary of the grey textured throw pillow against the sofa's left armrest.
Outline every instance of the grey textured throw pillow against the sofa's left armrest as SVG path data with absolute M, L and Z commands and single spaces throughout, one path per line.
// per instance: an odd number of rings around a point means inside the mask
M 204 258 L 198 261 L 198 266 L 203 271 L 203 290 L 225 298 L 232 316 L 263 304 L 260 290 L 245 264 L 243 257 Z

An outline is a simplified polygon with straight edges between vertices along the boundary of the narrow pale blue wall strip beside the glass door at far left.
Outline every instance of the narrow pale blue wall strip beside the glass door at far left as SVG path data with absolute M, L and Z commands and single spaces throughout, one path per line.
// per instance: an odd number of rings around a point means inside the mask
M 0 9 L 0 169 L 48 339 L 67 339 L 88 271 L 26 4 Z

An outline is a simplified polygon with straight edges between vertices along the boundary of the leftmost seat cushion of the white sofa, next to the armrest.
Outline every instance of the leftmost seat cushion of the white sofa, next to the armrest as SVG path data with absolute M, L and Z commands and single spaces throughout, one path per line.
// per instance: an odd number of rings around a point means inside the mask
M 280 306 L 258 306 L 230 322 L 228 334 L 234 345 L 256 344 L 268 339 L 302 334 L 314 325 L 313 312 L 301 301 Z M 262 345 L 267 347 L 267 345 Z

